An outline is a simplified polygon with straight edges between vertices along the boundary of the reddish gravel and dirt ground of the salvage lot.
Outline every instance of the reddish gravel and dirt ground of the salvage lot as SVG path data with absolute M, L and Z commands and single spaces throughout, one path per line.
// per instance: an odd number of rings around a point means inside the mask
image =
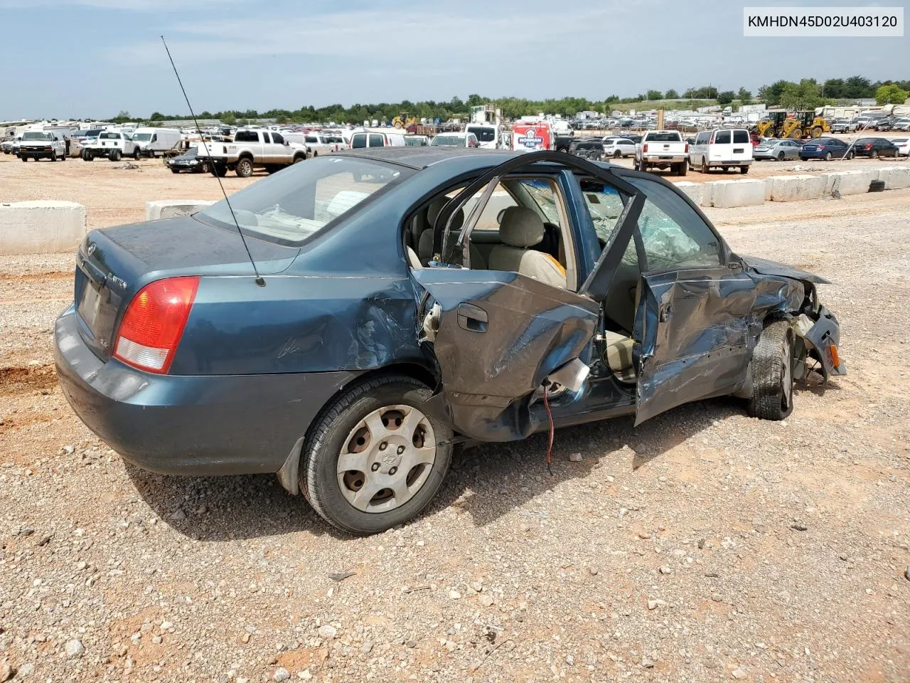
M 0 163 L 0 200 L 39 197 L 101 226 L 217 187 Z M 846 377 L 784 423 L 718 399 L 562 430 L 552 475 L 542 436 L 466 451 L 371 538 L 271 476 L 126 466 L 56 388 L 72 256 L 0 259 L 0 679 L 5 653 L 41 681 L 910 680 L 910 191 L 709 210 L 834 280 Z

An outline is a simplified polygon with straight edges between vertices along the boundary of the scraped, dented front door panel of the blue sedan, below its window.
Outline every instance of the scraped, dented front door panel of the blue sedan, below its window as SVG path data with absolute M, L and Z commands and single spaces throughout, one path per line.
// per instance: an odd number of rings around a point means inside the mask
M 682 403 L 733 392 L 752 353 L 755 283 L 722 266 L 642 276 L 635 423 Z

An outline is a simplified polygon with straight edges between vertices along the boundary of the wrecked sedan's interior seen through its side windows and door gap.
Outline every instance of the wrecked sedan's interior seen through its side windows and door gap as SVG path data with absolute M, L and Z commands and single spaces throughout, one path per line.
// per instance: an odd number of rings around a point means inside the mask
M 578 177 L 591 217 L 603 247 L 612 235 L 628 197 L 598 178 Z M 603 362 L 619 382 L 636 381 L 632 357 L 635 313 L 642 295 L 642 273 L 655 270 L 717 268 L 721 264 L 719 242 L 685 201 L 654 181 L 647 183 L 647 199 L 638 219 L 638 229 L 615 270 L 610 291 L 603 301 Z M 462 186 L 463 187 L 463 186 Z M 432 198 L 406 221 L 405 248 L 412 268 L 430 266 L 433 258 L 433 226 L 445 203 L 459 189 Z M 451 237 L 442 260 L 463 264 L 457 238 L 466 214 L 480 192 L 471 198 L 452 221 Z M 515 176 L 504 178 L 490 196 L 470 233 L 470 268 L 518 272 L 552 287 L 578 291 L 574 249 L 568 215 L 561 191 L 552 178 Z

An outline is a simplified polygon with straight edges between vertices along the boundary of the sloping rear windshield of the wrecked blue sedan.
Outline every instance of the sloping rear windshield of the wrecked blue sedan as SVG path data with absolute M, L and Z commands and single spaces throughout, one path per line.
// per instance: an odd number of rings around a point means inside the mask
M 240 190 L 231 196 L 230 207 L 219 201 L 198 215 L 236 229 L 233 208 L 244 232 L 297 244 L 411 173 L 369 159 L 319 157 Z

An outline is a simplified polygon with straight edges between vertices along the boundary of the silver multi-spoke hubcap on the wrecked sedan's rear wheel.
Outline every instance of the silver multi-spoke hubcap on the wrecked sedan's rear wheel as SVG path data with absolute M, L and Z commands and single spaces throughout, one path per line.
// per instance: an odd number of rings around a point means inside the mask
M 339 487 L 358 510 L 388 512 L 420 491 L 435 462 L 436 436 L 427 416 L 410 405 L 387 405 L 348 434 L 339 454 Z

